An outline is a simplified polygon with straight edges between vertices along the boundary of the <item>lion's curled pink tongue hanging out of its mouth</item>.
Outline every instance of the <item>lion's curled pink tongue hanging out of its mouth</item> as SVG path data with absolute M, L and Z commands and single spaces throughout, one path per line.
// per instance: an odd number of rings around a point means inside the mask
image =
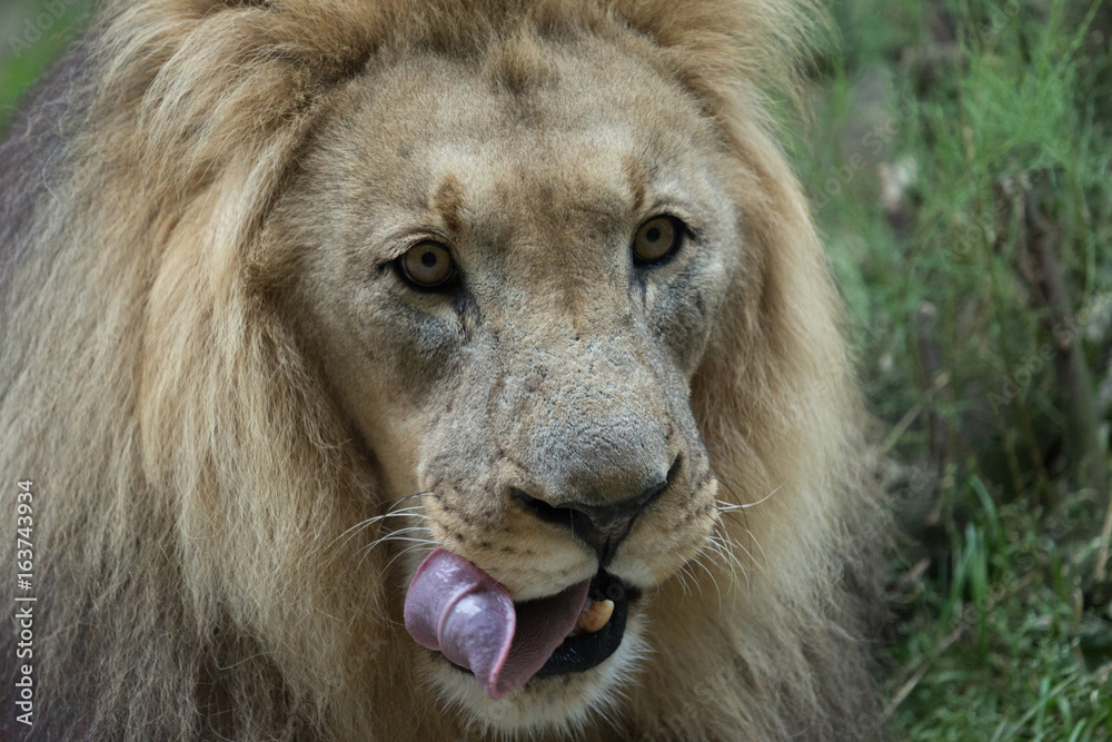
M 406 629 L 421 646 L 468 667 L 492 699 L 502 699 L 548 661 L 575 626 L 589 586 L 584 580 L 515 606 L 494 577 L 437 548 L 409 583 Z

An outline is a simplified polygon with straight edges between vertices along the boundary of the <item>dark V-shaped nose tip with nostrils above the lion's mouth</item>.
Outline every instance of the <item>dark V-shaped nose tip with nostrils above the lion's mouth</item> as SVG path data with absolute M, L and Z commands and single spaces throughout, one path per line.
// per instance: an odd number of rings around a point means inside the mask
M 587 502 L 564 502 L 559 506 L 513 488 L 514 497 L 526 512 L 546 523 L 569 526 L 572 532 L 585 541 L 596 554 L 599 566 L 605 567 L 614 558 L 622 541 L 629 535 L 633 523 L 644 509 L 656 501 L 672 484 L 679 468 L 677 456 L 667 476 L 644 492 L 604 505 Z

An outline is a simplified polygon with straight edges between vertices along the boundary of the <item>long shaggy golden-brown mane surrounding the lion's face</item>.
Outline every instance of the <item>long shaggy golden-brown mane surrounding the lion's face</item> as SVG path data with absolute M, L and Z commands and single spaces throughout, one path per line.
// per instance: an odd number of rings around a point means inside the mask
M 719 492 L 775 494 L 723 522 L 753 552 L 738 554 L 746 576 L 721 595 L 709 578 L 692 595 L 665 585 L 615 726 L 584 733 L 873 735 L 862 622 L 883 538 L 862 415 L 836 291 L 763 112 L 768 86 L 791 85 L 807 12 L 775 0 L 109 3 L 0 150 L 0 472 L 9 491 L 36 483 L 32 736 L 460 734 L 466 720 L 413 672 L 390 554 L 340 537 L 378 512 L 374 456 L 272 310 L 290 267 L 262 259 L 257 237 L 330 93 L 376 55 L 485 53 L 512 86 L 532 73 L 528 39 L 618 39 L 623 23 L 663 49 L 742 166 L 753 261 L 692 406 Z M 0 663 L 8 689 L 12 661 Z

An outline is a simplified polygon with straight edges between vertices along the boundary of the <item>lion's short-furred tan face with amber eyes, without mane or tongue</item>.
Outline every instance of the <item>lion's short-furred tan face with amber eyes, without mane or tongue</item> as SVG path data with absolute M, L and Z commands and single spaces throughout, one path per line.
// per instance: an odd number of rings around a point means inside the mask
M 427 653 L 495 725 L 603 702 L 638 654 L 646 588 L 717 518 L 689 384 L 742 257 L 728 164 L 694 97 L 626 43 L 384 55 L 278 209 L 306 353 L 391 499 L 427 493 L 393 547 L 430 540 L 515 601 L 599 570 L 628 588 L 613 654 L 505 701 Z

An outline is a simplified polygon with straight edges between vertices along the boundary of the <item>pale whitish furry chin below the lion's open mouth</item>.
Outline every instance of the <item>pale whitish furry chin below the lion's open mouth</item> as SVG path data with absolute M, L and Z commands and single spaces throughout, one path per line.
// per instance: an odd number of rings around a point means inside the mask
M 644 622 L 643 611 L 631 609 L 622 644 L 606 661 L 585 672 L 535 677 L 498 701 L 473 675 L 430 653 L 431 680 L 444 701 L 463 709 L 469 725 L 498 732 L 579 731 L 596 714 L 612 715 L 622 689 L 648 654 Z

